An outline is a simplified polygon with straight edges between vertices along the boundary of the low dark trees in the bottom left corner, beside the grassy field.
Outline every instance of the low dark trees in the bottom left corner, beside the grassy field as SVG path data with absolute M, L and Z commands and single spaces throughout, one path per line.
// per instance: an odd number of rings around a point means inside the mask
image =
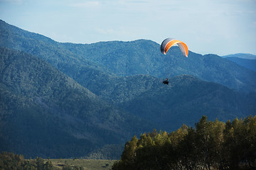
M 41 157 L 36 159 L 24 159 L 21 154 L 14 154 L 9 152 L 2 152 L 0 154 L 0 170 L 59 170 L 59 168 L 54 167 L 53 164 L 48 159 L 45 161 Z M 62 170 L 82 170 L 82 167 L 70 166 L 64 164 Z

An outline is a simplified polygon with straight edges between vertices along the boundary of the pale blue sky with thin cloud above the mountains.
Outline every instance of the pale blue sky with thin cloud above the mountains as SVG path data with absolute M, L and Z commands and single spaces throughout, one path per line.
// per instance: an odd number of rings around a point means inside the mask
M 0 18 L 58 42 L 170 37 L 203 55 L 256 55 L 255 0 L 0 0 Z

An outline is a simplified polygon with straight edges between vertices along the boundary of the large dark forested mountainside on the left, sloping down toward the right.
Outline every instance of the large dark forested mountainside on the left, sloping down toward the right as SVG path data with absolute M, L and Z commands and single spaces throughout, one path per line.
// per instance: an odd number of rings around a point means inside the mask
M 150 130 L 36 56 L 1 47 L 0 63 L 1 150 L 82 157 Z

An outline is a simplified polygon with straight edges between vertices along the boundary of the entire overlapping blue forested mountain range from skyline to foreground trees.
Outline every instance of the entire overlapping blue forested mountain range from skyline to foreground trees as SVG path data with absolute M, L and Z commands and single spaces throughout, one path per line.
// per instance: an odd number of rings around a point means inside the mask
M 154 128 L 255 115 L 255 77 L 218 55 L 161 55 L 151 40 L 60 43 L 0 21 L 0 151 L 119 159 Z

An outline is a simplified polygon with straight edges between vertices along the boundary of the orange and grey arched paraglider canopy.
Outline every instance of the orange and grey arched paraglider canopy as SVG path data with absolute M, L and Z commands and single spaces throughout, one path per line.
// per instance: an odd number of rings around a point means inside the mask
M 161 53 L 166 55 L 166 52 L 173 46 L 173 45 L 178 45 L 178 47 L 181 49 L 181 52 L 184 57 L 188 57 L 188 46 L 180 41 L 176 40 L 174 38 L 166 38 L 162 43 L 161 43 Z

